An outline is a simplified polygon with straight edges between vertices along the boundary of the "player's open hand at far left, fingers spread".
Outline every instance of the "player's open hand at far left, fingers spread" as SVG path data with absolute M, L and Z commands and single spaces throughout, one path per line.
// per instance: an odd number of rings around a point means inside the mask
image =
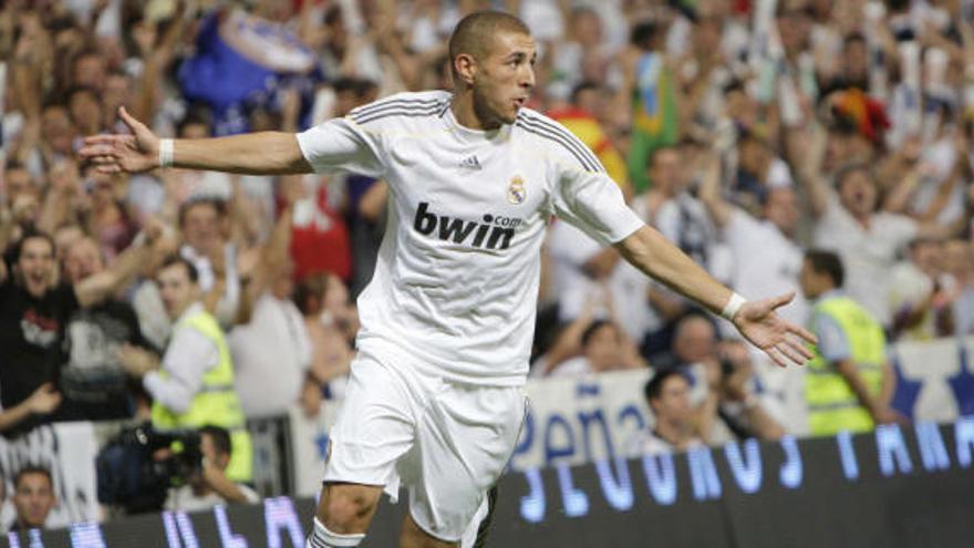
M 132 135 L 90 135 L 80 154 L 91 159 L 102 173 L 138 173 L 159 166 L 159 138 L 145 124 L 118 108 Z

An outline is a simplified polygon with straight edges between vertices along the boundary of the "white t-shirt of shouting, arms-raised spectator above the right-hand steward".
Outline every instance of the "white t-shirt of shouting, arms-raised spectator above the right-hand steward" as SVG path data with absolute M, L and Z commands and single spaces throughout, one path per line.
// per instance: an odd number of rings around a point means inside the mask
M 916 221 L 888 213 L 873 214 L 862 228 L 830 193 L 825 215 L 815 227 L 815 244 L 839 254 L 846 270 L 846 294 L 862 304 L 883 325 L 890 324 L 890 269 L 897 252 L 916 236 Z

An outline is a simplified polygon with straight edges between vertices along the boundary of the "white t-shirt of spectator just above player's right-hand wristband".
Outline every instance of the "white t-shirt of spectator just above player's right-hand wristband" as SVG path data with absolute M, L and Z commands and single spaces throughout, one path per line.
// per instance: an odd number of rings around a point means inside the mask
M 734 254 L 734 289 L 748 299 L 764 299 L 795 291 L 795 300 L 779 310 L 789 321 L 804 325 L 808 303 L 798 289 L 802 252 L 769 220 L 758 220 L 735 208 L 724 227 Z

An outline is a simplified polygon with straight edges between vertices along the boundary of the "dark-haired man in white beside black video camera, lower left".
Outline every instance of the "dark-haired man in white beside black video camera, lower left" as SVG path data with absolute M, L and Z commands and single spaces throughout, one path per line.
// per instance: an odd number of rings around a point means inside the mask
M 219 426 L 199 428 L 199 468 L 186 485 L 169 489 L 166 509 L 204 510 L 228 503 L 258 503 L 260 496 L 250 487 L 227 477 L 230 464 L 230 433 Z

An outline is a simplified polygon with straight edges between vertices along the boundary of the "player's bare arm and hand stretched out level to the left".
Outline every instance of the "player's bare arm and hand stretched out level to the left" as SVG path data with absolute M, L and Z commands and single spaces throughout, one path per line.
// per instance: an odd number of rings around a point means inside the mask
M 159 154 L 159 139 L 125 107 L 118 111 L 131 135 L 85 137 L 81 155 L 103 173 L 138 173 L 155 169 L 167 161 L 172 167 L 209 169 L 251 175 L 311 173 L 291 133 L 263 132 L 230 137 L 176 139 L 172 149 Z M 166 145 L 168 146 L 168 145 Z

